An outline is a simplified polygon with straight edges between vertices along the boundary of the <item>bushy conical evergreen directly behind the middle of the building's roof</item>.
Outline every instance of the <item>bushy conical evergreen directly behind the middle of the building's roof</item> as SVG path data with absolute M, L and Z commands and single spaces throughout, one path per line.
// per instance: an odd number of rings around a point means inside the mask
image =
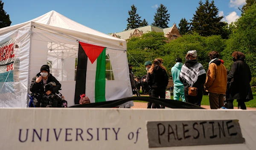
M 170 21 L 170 14 L 167 14 L 166 6 L 160 4 L 157 8 L 157 13 L 154 15 L 154 23 L 152 25 L 160 28 L 168 28 L 168 21 Z

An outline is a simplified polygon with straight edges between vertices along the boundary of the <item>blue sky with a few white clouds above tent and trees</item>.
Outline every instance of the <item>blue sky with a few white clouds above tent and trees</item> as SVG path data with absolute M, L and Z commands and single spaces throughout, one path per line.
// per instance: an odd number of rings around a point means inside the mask
M 205 2 L 205 0 L 202 0 Z M 210 0 L 211 1 L 211 0 Z M 157 6 L 161 3 L 170 13 L 169 26 L 178 24 L 181 18 L 192 19 L 199 0 L 3 0 L 4 10 L 10 15 L 12 25 L 55 10 L 64 16 L 105 34 L 120 32 L 126 28 L 131 5 L 151 24 Z M 245 0 L 215 0 L 224 21 L 231 23 L 241 15 L 238 7 Z

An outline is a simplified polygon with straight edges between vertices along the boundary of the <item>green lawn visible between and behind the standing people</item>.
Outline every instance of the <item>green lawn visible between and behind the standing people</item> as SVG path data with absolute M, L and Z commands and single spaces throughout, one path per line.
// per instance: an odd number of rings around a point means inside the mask
M 137 96 L 134 96 L 134 97 L 137 97 Z M 145 96 L 145 97 L 148 97 L 148 96 Z M 249 102 L 245 102 L 246 107 L 256 108 L 256 94 L 253 94 L 253 98 L 254 98 L 253 100 L 250 100 Z M 171 99 L 173 99 L 173 96 L 171 96 Z M 145 102 L 145 101 L 134 101 L 134 102 Z M 209 96 L 207 96 L 207 95 L 203 96 L 201 105 L 210 105 Z M 234 107 L 237 107 L 236 100 L 234 100 L 233 105 L 234 105 Z

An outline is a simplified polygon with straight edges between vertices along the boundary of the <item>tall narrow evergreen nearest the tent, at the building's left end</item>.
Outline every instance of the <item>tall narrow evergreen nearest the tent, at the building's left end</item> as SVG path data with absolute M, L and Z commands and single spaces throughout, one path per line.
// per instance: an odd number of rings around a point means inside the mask
M 137 8 L 134 6 L 134 4 L 131 6 L 131 11 L 128 11 L 129 13 L 129 18 L 127 19 L 128 24 L 127 24 L 127 29 L 129 28 L 138 28 L 140 26 L 141 20 L 139 17 L 139 14 L 136 13 Z

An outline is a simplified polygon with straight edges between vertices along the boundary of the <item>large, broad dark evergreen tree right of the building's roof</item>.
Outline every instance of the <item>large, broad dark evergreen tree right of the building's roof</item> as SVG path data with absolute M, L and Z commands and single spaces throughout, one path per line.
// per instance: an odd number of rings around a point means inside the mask
M 218 16 L 218 8 L 215 6 L 214 0 L 212 0 L 212 3 L 206 0 L 204 4 L 200 0 L 193 20 L 190 20 L 191 29 L 204 37 L 222 35 L 222 28 L 225 26 L 225 23 L 221 21 L 222 18 L 223 16 Z

